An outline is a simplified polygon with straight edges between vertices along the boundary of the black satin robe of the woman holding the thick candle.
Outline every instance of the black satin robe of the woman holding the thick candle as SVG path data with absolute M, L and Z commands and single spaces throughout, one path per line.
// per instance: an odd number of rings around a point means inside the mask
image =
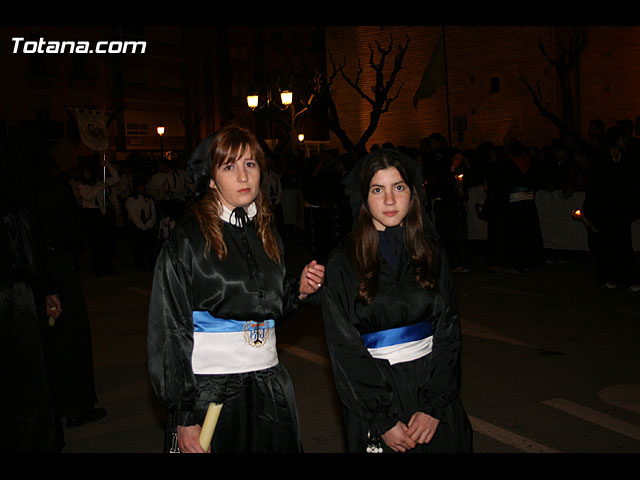
M 209 402 L 223 403 L 213 452 L 301 451 L 291 380 L 281 364 L 256 372 L 195 375 L 192 312 L 218 318 L 274 319 L 295 313 L 298 281 L 284 260 L 264 251 L 254 222 L 223 222 L 226 260 L 204 256 L 205 239 L 195 217 L 185 218 L 165 242 L 156 262 L 148 325 L 148 362 L 153 388 L 176 425 L 202 424 Z M 280 250 L 283 244 L 277 237 Z

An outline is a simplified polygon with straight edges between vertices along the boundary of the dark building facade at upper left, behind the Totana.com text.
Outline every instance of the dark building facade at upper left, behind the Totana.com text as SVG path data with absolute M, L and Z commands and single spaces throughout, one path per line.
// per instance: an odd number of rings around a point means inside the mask
M 316 32 L 295 26 L 3 26 L 0 130 L 26 132 L 63 170 L 95 163 L 102 154 L 83 144 L 77 110 L 105 114 L 106 154 L 115 163 L 131 155 L 188 154 L 229 122 L 266 137 L 268 119 L 248 108 L 247 93 L 286 80 L 290 62 L 304 61 L 295 52 L 324 55 L 324 45 L 314 47 Z M 126 42 L 144 48 L 125 50 Z

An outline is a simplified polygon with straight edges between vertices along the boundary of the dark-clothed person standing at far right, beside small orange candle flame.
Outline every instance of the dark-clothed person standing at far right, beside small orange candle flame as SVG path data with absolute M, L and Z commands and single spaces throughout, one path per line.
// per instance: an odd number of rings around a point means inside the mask
M 594 159 L 583 212 L 593 226 L 588 245 L 598 286 L 640 291 L 633 252 L 634 167 L 618 127 L 605 133 L 605 148 Z

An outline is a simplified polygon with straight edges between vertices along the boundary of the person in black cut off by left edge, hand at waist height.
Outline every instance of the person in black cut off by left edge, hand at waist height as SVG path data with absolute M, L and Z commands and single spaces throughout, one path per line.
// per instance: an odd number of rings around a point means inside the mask
M 55 320 L 60 304 L 38 249 L 34 161 L 29 153 L 33 145 L 20 132 L 12 132 L 0 144 L 0 449 L 4 453 L 59 452 L 64 446 L 44 362 L 47 317 Z

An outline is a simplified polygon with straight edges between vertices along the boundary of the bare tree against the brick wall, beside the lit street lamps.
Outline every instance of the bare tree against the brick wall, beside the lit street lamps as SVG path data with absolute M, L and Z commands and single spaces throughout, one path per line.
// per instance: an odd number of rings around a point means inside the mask
M 389 111 L 391 103 L 398 98 L 402 85 L 400 85 L 395 94 L 392 94 L 394 83 L 396 82 L 398 72 L 402 68 L 402 62 L 404 55 L 409 48 L 409 39 L 405 44 L 400 43 L 398 46 L 398 52 L 393 59 L 393 68 L 388 78 L 385 79 L 384 67 L 387 62 L 387 57 L 393 52 L 394 42 L 392 35 L 389 35 L 389 43 L 386 48 L 377 41 L 375 42 L 375 49 L 372 45 L 369 45 L 369 67 L 375 72 L 375 82 L 371 85 L 371 92 L 366 91 L 366 87 L 361 85 L 361 75 L 363 68 L 358 59 L 358 70 L 355 77 L 352 78 L 345 73 L 346 59 L 340 64 L 336 64 L 333 56 L 329 54 L 329 61 L 331 63 L 331 73 L 324 73 L 319 70 L 313 72 L 313 74 L 307 75 L 307 88 L 308 95 L 304 102 L 304 108 L 311 108 L 314 104 L 323 105 L 323 110 L 326 111 L 326 120 L 329 130 L 331 130 L 336 137 L 342 143 L 342 146 L 347 151 L 362 151 L 365 149 L 367 141 L 371 138 L 378 123 L 380 117 Z M 377 54 L 377 55 L 376 55 Z M 376 59 L 376 56 L 378 58 Z M 371 105 L 371 111 L 369 112 L 369 125 L 362 132 L 360 138 L 353 142 L 346 131 L 342 127 L 340 117 L 338 115 L 338 108 L 335 104 L 333 96 L 331 94 L 331 88 L 334 85 L 336 78 L 340 76 L 353 90 L 355 90 L 361 98 L 366 100 Z

